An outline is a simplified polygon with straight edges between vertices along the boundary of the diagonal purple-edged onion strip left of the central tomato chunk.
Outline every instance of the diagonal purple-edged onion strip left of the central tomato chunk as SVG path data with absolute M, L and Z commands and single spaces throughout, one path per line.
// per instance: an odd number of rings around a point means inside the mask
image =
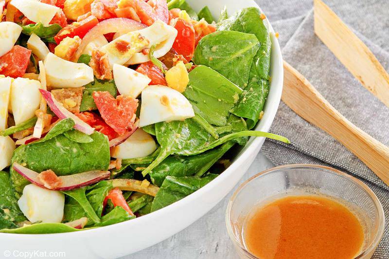
M 93 133 L 94 128 L 68 111 L 62 104 L 55 100 L 51 92 L 43 89 L 39 89 L 39 91 L 42 94 L 42 97 L 46 100 L 50 109 L 52 109 L 53 113 L 58 116 L 59 119 L 71 118 L 75 123 L 74 128 L 76 130 L 79 130 L 87 135 L 91 135 Z

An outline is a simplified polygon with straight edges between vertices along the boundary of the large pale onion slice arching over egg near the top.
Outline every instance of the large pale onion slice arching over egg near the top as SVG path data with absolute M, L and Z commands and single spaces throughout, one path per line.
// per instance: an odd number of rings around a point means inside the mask
M 141 30 L 145 27 L 147 26 L 128 18 L 110 18 L 101 21 L 92 29 L 90 29 L 90 31 L 83 37 L 80 47 L 78 47 L 77 52 L 74 54 L 73 61 L 76 62 L 88 44 L 98 36 L 108 33 L 125 34 L 128 32 Z

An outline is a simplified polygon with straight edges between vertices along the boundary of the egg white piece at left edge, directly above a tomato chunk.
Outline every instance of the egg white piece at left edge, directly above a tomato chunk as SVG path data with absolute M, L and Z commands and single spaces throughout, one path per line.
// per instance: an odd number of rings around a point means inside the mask
M 0 22 L 0 56 L 9 52 L 21 33 L 21 27 L 15 22 Z

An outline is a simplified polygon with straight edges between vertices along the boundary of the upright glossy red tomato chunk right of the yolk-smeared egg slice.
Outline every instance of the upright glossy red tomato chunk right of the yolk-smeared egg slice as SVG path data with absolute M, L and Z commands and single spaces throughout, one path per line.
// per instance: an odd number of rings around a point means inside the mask
M 192 23 L 181 18 L 177 18 L 174 28 L 177 29 L 178 34 L 173 49 L 189 62 L 195 52 L 195 28 Z

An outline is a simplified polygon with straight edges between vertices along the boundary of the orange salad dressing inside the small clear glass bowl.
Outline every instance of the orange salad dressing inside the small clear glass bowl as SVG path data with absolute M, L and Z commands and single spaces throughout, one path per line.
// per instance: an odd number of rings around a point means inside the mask
M 287 196 L 252 213 L 244 227 L 248 251 L 260 259 L 352 259 L 363 227 L 345 206 L 321 196 Z

